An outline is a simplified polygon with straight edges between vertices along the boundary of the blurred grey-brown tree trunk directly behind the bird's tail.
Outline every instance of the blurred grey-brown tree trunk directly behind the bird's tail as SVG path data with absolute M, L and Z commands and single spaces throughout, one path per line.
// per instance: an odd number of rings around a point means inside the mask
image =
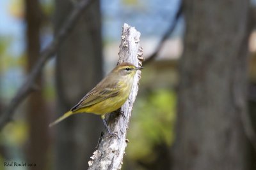
M 56 0 L 56 31 L 75 1 Z M 58 115 L 77 104 L 102 79 L 100 3 L 84 11 L 57 55 Z M 86 169 L 104 128 L 99 116 L 73 115 L 56 125 L 56 169 Z

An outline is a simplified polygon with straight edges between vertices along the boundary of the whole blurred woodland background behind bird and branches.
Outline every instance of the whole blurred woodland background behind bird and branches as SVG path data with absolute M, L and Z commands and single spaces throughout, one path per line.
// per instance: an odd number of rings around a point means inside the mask
M 0 119 L 78 4 L 0 1 Z M 256 169 L 255 20 L 255 1 L 93 1 L 1 129 L 0 169 L 87 169 L 100 117 L 48 125 L 116 66 L 124 23 L 141 32 L 143 57 L 156 55 L 141 74 L 122 169 Z

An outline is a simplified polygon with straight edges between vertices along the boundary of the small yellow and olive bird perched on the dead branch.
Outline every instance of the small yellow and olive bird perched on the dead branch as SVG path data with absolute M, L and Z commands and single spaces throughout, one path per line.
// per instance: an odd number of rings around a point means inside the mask
M 56 125 L 76 113 L 94 113 L 101 115 L 104 125 L 108 129 L 104 120 L 105 114 L 118 110 L 125 103 L 131 92 L 134 75 L 138 69 L 143 69 L 143 67 L 136 67 L 128 62 L 119 64 L 96 87 L 88 92 L 76 106 L 49 126 L 52 127 L 52 125 Z M 109 129 L 108 132 L 111 133 Z

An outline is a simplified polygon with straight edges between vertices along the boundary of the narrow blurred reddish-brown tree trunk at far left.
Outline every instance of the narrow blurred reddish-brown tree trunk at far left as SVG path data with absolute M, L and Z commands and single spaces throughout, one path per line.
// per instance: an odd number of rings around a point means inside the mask
M 35 65 L 40 52 L 40 4 L 35 0 L 26 0 L 26 22 L 27 22 L 27 54 L 28 73 Z M 49 146 L 49 132 L 47 123 L 49 122 L 45 114 L 45 101 L 42 94 L 42 76 L 38 76 L 35 87 L 36 90 L 29 96 L 28 101 L 28 163 L 35 163 L 35 167 L 30 169 L 46 169 L 47 148 Z

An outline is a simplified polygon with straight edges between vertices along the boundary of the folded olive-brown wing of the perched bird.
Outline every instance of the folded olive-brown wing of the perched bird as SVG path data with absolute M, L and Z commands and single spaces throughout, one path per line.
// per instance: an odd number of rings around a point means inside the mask
M 105 87 L 102 87 L 102 84 L 97 85 L 90 92 L 88 92 L 88 94 L 86 94 L 86 96 L 84 96 L 83 99 L 81 99 L 81 101 L 79 101 L 79 103 L 77 103 L 76 106 L 71 109 L 71 111 L 76 111 L 81 108 L 91 106 L 93 104 L 104 101 L 109 97 L 118 95 L 118 92 L 120 91 L 119 88 L 113 87 L 116 87 L 116 85 L 106 85 Z

